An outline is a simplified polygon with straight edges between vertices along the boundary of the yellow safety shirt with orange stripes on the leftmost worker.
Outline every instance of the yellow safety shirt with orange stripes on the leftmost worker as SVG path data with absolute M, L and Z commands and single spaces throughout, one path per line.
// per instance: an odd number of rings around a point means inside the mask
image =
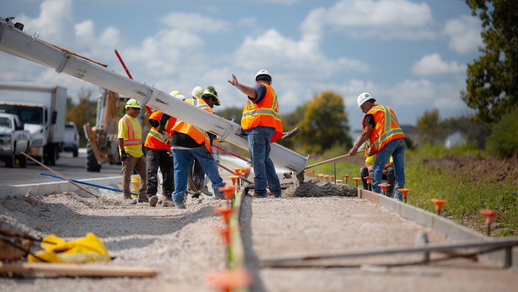
M 141 157 L 142 152 L 142 128 L 138 119 L 124 115 L 119 120 L 118 138 L 124 140 L 124 151 L 133 157 Z

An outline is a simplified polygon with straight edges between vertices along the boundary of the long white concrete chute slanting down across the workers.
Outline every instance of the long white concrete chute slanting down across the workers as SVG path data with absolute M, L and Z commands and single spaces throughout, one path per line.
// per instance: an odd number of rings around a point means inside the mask
M 123 94 L 140 101 L 142 105 L 156 108 L 196 127 L 217 134 L 220 140 L 249 150 L 247 138 L 238 134 L 240 126 L 237 123 L 173 98 L 153 86 L 113 73 L 92 60 L 87 61 L 69 51 L 65 52 L 51 46 L 45 41 L 39 40 L 38 33 L 35 33 L 34 36 L 24 33 L 17 28 L 23 29 L 23 25 L 19 23 L 15 25 L 11 20 L 12 18 L 0 17 L 0 51 L 54 68 L 57 73 L 63 72 Z M 271 160 L 294 173 L 304 170 L 308 157 L 301 156 L 276 143 L 271 144 Z

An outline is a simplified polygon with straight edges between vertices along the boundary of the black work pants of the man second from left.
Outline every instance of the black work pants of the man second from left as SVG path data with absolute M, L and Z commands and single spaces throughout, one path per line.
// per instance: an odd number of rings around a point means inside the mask
M 162 184 L 162 194 L 172 194 L 175 191 L 175 177 L 173 175 L 175 166 L 172 157 L 167 154 L 167 150 L 165 149 L 148 148 L 146 155 L 148 198 L 156 195 L 157 188 L 159 186 L 157 175 L 159 167 L 162 171 L 162 178 L 164 180 L 164 183 Z

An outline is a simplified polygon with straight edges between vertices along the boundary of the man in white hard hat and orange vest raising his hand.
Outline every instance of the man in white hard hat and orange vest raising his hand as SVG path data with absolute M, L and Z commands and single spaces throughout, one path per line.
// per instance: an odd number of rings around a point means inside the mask
M 230 84 L 248 96 L 241 118 L 243 134 L 248 135 L 250 160 L 254 169 L 254 193 L 252 197 L 266 198 L 268 185 L 275 198 L 281 197 L 281 183 L 270 159 L 270 143 L 282 137 L 281 116 L 277 94 L 271 88 L 272 78 L 268 71 L 255 74 L 255 85 L 242 85 L 232 74 Z

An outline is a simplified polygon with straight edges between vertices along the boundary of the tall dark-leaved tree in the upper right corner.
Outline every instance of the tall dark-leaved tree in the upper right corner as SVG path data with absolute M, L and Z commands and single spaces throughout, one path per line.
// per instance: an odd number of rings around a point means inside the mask
M 483 55 L 468 64 L 461 97 L 489 127 L 518 106 L 518 1 L 466 0 L 482 20 Z

